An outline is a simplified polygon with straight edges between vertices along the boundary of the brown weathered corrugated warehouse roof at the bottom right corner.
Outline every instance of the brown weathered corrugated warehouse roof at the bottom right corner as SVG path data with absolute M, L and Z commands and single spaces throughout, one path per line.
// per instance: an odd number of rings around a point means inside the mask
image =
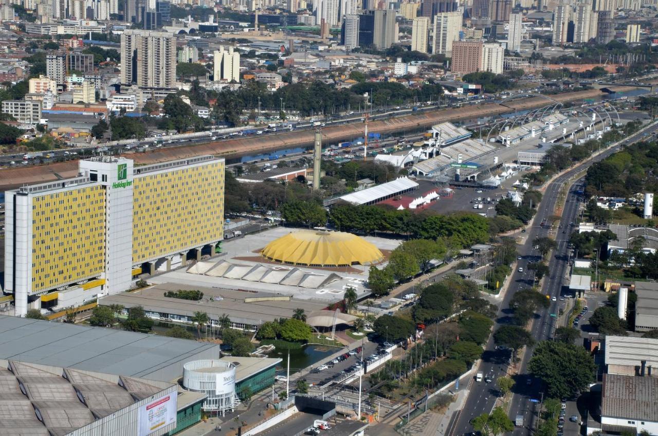
M 603 374 L 601 416 L 658 422 L 658 377 Z

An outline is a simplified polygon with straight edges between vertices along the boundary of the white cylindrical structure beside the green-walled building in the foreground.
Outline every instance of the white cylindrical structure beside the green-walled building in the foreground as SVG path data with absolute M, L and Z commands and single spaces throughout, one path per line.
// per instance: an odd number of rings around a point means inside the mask
M 224 412 L 240 404 L 236 395 L 236 367 L 223 360 L 195 360 L 183 366 L 183 386 L 208 395 L 203 410 Z

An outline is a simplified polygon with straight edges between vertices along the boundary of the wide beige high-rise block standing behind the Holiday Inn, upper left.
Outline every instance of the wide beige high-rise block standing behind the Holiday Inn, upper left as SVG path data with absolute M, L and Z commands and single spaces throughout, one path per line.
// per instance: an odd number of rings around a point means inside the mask
M 139 88 L 176 86 L 176 37 L 166 32 L 124 30 L 121 35 L 121 83 Z

